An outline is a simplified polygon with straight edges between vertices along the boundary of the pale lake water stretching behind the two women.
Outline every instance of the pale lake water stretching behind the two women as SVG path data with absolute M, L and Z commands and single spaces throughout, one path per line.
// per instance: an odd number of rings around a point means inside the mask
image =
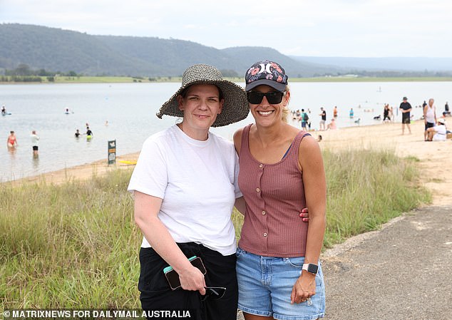
M 242 85 L 242 83 L 239 83 Z M 11 115 L 0 116 L 0 182 L 15 180 L 43 172 L 81 165 L 107 158 L 107 141 L 116 140 L 117 155 L 135 153 L 149 135 L 168 128 L 176 118 L 155 113 L 179 88 L 179 83 L 88 83 L 88 84 L 16 84 L 0 85 L 0 105 Z M 394 82 L 394 83 L 292 83 L 292 110 L 308 108 L 312 128 L 319 128 L 320 107 L 327 110 L 327 123 L 337 105 L 339 128 L 381 123 L 384 103 L 394 107 L 400 122 L 399 104 L 409 97 L 414 118 L 422 115 L 423 100 L 435 98 L 438 111 L 446 101 L 452 101 L 451 82 Z M 70 113 L 65 114 L 69 108 Z M 354 119 L 349 109 L 354 108 Z M 373 111 L 372 111 L 373 110 Z M 240 123 L 212 131 L 232 139 L 237 128 L 252 123 L 252 116 Z M 106 125 L 108 121 L 108 125 Z M 86 132 L 86 123 L 93 131 L 93 139 L 74 138 L 78 128 Z M 292 122 L 299 126 L 298 122 Z M 6 148 L 9 131 L 16 132 L 19 147 L 14 153 Z M 30 134 L 36 130 L 39 157 L 34 159 Z M 340 130 L 338 131 L 340 134 Z

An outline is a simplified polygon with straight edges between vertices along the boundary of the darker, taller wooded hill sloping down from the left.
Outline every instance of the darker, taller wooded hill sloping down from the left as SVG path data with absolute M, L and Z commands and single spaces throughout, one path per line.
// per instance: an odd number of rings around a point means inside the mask
M 25 63 L 33 69 L 85 75 L 180 76 L 194 63 L 208 63 L 243 76 L 252 63 L 263 58 L 281 63 L 292 78 L 335 71 L 297 61 L 272 48 L 219 50 L 176 39 L 93 36 L 46 26 L 0 24 L 0 69 Z

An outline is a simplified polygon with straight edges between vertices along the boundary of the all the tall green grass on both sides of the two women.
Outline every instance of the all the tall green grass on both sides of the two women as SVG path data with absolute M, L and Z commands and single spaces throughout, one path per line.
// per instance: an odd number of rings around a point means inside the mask
M 413 160 L 324 152 L 330 246 L 428 202 Z M 1 308 L 139 307 L 130 170 L 88 182 L 0 185 Z M 233 220 L 240 231 L 242 217 Z

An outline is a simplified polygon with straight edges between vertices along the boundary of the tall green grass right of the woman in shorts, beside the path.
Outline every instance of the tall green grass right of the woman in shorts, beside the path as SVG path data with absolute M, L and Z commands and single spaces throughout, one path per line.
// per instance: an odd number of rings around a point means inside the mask
M 431 202 L 420 186 L 413 160 L 394 151 L 324 151 L 327 174 L 327 232 L 324 245 L 378 229 L 394 217 Z

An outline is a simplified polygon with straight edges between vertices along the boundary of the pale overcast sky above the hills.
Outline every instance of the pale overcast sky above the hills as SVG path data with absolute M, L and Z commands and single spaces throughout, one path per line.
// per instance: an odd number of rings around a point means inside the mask
M 452 57 L 451 0 L 0 0 L 0 22 L 294 56 Z

